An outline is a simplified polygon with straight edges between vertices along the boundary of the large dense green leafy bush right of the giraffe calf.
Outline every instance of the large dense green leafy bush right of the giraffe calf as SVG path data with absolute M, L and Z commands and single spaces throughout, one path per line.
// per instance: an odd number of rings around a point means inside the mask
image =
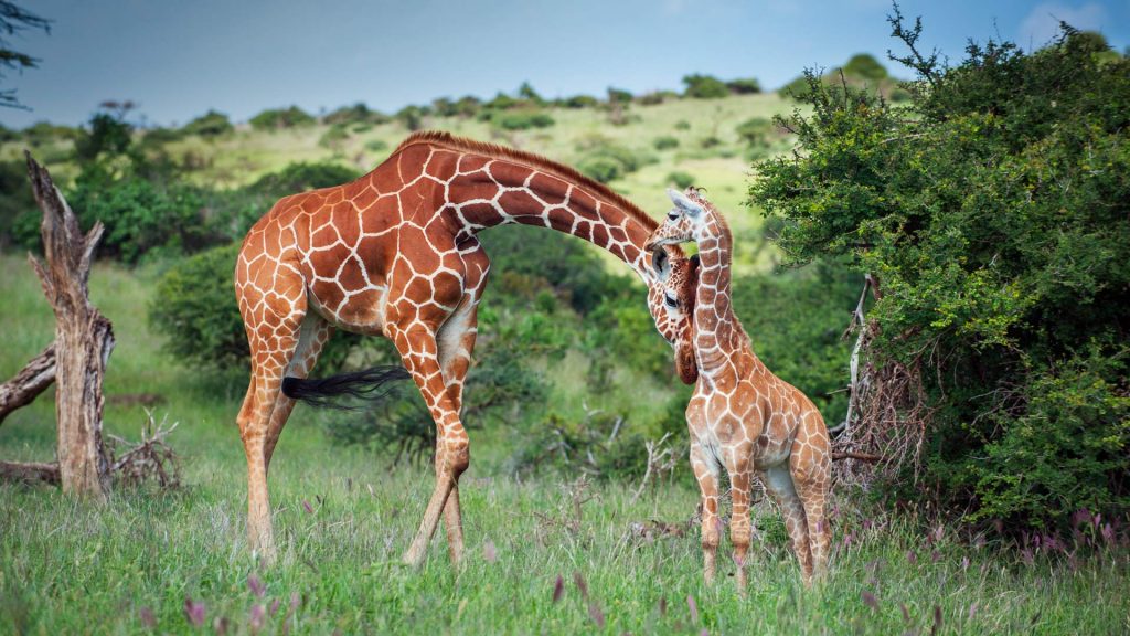
M 1064 27 L 948 67 L 893 24 L 919 75 L 907 105 L 809 74 L 812 114 L 786 122 L 800 153 L 760 163 L 751 199 L 790 260 L 877 277 L 867 353 L 920 383 L 883 404 L 925 431 L 916 483 L 938 504 L 1012 528 L 1123 515 L 1130 60 Z

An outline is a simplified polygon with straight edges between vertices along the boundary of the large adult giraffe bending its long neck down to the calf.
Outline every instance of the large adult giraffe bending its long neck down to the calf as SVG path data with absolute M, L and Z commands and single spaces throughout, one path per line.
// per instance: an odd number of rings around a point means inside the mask
M 267 471 L 294 398 L 410 376 L 435 420 L 436 483 L 405 561 L 423 560 L 441 513 L 451 558 L 459 561 L 458 482 L 470 463 L 460 405 L 489 269 L 476 234 L 506 223 L 573 234 L 624 260 L 647 284 L 657 326 L 673 341 L 643 249 L 655 222 L 609 188 L 545 157 L 416 132 L 356 181 L 279 200 L 247 233 L 235 269 L 252 362 L 238 414 L 247 531 L 264 560 L 276 555 Z M 681 258 L 672 252 L 672 260 Z M 405 369 L 345 381 L 305 379 L 334 328 L 388 337 Z

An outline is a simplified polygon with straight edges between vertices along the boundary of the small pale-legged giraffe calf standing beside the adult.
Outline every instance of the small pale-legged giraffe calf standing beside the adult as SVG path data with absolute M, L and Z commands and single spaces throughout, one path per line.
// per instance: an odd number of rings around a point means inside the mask
M 733 517 L 730 540 L 745 590 L 745 559 L 750 541 L 749 498 L 757 475 L 784 516 L 805 584 L 827 569 L 831 528 L 824 516 L 832 484 L 832 453 L 824 418 L 803 393 L 777 378 L 757 359 L 730 301 L 732 239 L 722 215 L 697 190 L 668 190 L 675 208 L 647 240 L 647 249 L 696 241 L 698 263 L 686 273 L 670 270 L 664 304 L 670 318 L 687 325 L 676 359 L 680 377 L 693 377 L 685 343 L 693 347 L 697 371 L 687 405 L 690 466 L 703 498 L 702 542 L 706 582 L 714 578 L 721 521 L 718 516 L 719 467 L 730 475 Z M 697 265 L 697 267 L 695 267 Z M 666 268 L 666 272 L 664 272 Z M 697 284 L 694 280 L 697 277 Z M 694 290 L 688 293 L 687 290 Z M 687 320 L 687 317 L 690 319 Z

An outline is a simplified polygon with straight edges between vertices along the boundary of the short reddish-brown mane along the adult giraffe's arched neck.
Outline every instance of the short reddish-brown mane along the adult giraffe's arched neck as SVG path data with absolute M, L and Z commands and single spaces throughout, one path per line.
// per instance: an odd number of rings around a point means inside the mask
M 470 151 L 473 153 L 479 153 L 484 155 L 489 155 L 492 157 L 501 157 L 514 161 L 516 163 L 523 164 L 528 167 L 534 167 L 542 170 L 554 177 L 557 177 L 564 181 L 571 181 L 579 183 L 590 192 L 605 199 L 607 203 L 615 205 L 616 207 L 624 210 L 631 218 L 635 220 L 637 223 L 643 225 L 647 232 L 652 232 L 659 226 L 659 222 L 647 215 L 644 210 L 640 209 L 637 205 L 629 201 L 624 195 L 620 195 L 609 188 L 608 186 L 597 181 L 596 179 L 583 174 L 575 167 L 570 167 L 563 163 L 555 162 L 548 157 L 539 155 L 537 153 L 531 153 L 529 151 L 519 151 L 516 148 L 508 148 L 499 144 L 492 144 L 488 141 L 477 141 L 475 139 L 469 139 L 467 137 L 459 137 L 447 132 L 445 130 L 418 130 L 409 135 L 403 141 L 397 146 L 397 149 L 392 154 L 397 154 L 400 151 L 416 144 L 431 144 L 433 146 L 442 146 L 445 148 L 453 148 L 458 151 Z M 673 256 L 683 257 L 683 250 L 678 246 L 668 246 L 669 252 L 673 252 Z

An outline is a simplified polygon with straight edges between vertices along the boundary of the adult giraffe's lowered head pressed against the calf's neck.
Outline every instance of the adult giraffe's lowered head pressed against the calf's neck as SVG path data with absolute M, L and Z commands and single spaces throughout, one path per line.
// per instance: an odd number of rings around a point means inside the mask
M 693 385 L 698 380 L 698 364 L 695 362 L 694 316 L 695 295 L 698 286 L 698 257 L 672 260 L 667 250 L 657 248 L 652 265 L 663 293 L 663 310 L 675 346 L 675 370 L 683 384 Z M 657 323 L 661 320 L 655 318 Z M 662 329 L 661 329 L 662 332 Z

